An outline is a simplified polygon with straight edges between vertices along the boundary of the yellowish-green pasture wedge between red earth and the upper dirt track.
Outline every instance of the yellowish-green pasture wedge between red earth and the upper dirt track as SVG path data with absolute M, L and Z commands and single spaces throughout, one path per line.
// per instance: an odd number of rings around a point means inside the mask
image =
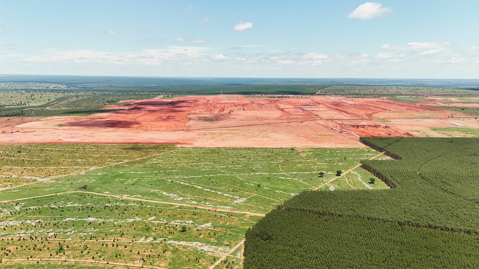
M 3 145 L 0 190 L 173 150 L 160 145 Z

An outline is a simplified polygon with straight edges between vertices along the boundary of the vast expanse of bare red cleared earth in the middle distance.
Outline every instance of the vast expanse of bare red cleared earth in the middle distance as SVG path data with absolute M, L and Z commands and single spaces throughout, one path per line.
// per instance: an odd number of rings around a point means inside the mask
M 385 99 L 334 96 L 187 96 L 108 108 L 123 110 L 28 119 L 27 123 L 0 128 L 22 131 L 2 133 L 0 143 L 357 147 L 362 145 L 360 136 L 421 135 L 428 127 L 453 127 L 448 118 L 452 115 L 468 117 Z

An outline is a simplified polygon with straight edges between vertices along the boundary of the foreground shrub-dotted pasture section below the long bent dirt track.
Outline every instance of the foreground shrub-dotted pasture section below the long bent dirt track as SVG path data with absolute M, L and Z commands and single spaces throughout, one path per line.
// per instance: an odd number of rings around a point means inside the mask
M 3 264 L 32 258 L 42 264 L 79 259 L 204 268 L 259 218 L 81 193 L 8 203 L 1 210 L 14 212 L 0 219 L 0 246 L 9 254 Z

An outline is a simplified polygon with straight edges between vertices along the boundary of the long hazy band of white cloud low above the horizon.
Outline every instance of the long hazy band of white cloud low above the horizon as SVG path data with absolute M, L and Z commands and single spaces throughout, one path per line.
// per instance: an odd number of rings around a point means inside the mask
M 179 40 L 187 42 L 187 38 Z M 131 70 L 142 70 L 144 74 L 137 75 L 161 73 L 168 76 L 476 77 L 479 56 L 464 49 L 456 50 L 448 44 L 386 44 L 376 55 L 362 52 L 326 55 L 320 51 L 248 54 L 246 49 L 221 51 L 224 48 L 200 45 L 165 46 L 128 53 L 49 49 L 35 55 L 19 55 L 5 51 L 0 53 L 0 67 L 5 70 L 11 70 L 12 66 L 17 68 L 14 70 L 21 70 L 22 67 L 37 68 L 35 70 L 97 70 L 97 67 L 101 70 L 124 70 L 125 75 Z

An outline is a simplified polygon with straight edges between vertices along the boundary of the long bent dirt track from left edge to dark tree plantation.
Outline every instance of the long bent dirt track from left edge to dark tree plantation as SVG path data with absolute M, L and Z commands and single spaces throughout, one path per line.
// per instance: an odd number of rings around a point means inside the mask
M 0 201 L 0 203 L 22 201 L 22 200 L 28 200 L 28 199 L 34 199 L 34 198 L 40 198 L 40 197 L 46 197 L 46 196 L 53 196 L 57 194 L 65 194 L 65 193 L 90 193 L 90 194 L 96 194 L 96 195 L 110 196 L 110 197 L 114 197 L 118 199 L 136 200 L 140 202 L 156 202 L 156 203 L 171 204 L 171 205 L 177 205 L 177 206 L 196 207 L 199 209 L 209 209 L 209 210 L 220 211 L 220 212 L 240 213 L 240 214 L 248 214 L 248 215 L 255 215 L 255 216 L 262 216 L 262 217 L 265 216 L 265 214 L 261 214 L 261 213 L 251 213 L 251 212 L 206 207 L 206 206 L 193 205 L 193 204 L 176 203 L 176 202 L 162 202 L 162 201 L 147 200 L 147 199 L 140 199 L 140 198 L 134 198 L 134 197 L 125 197 L 125 196 L 115 195 L 115 194 L 98 193 L 98 192 L 92 192 L 92 191 L 64 191 L 64 192 L 50 193 L 50 194 L 44 194 L 44 195 L 38 195 L 38 196 L 32 196 L 32 197 L 18 198 L 13 200 Z

